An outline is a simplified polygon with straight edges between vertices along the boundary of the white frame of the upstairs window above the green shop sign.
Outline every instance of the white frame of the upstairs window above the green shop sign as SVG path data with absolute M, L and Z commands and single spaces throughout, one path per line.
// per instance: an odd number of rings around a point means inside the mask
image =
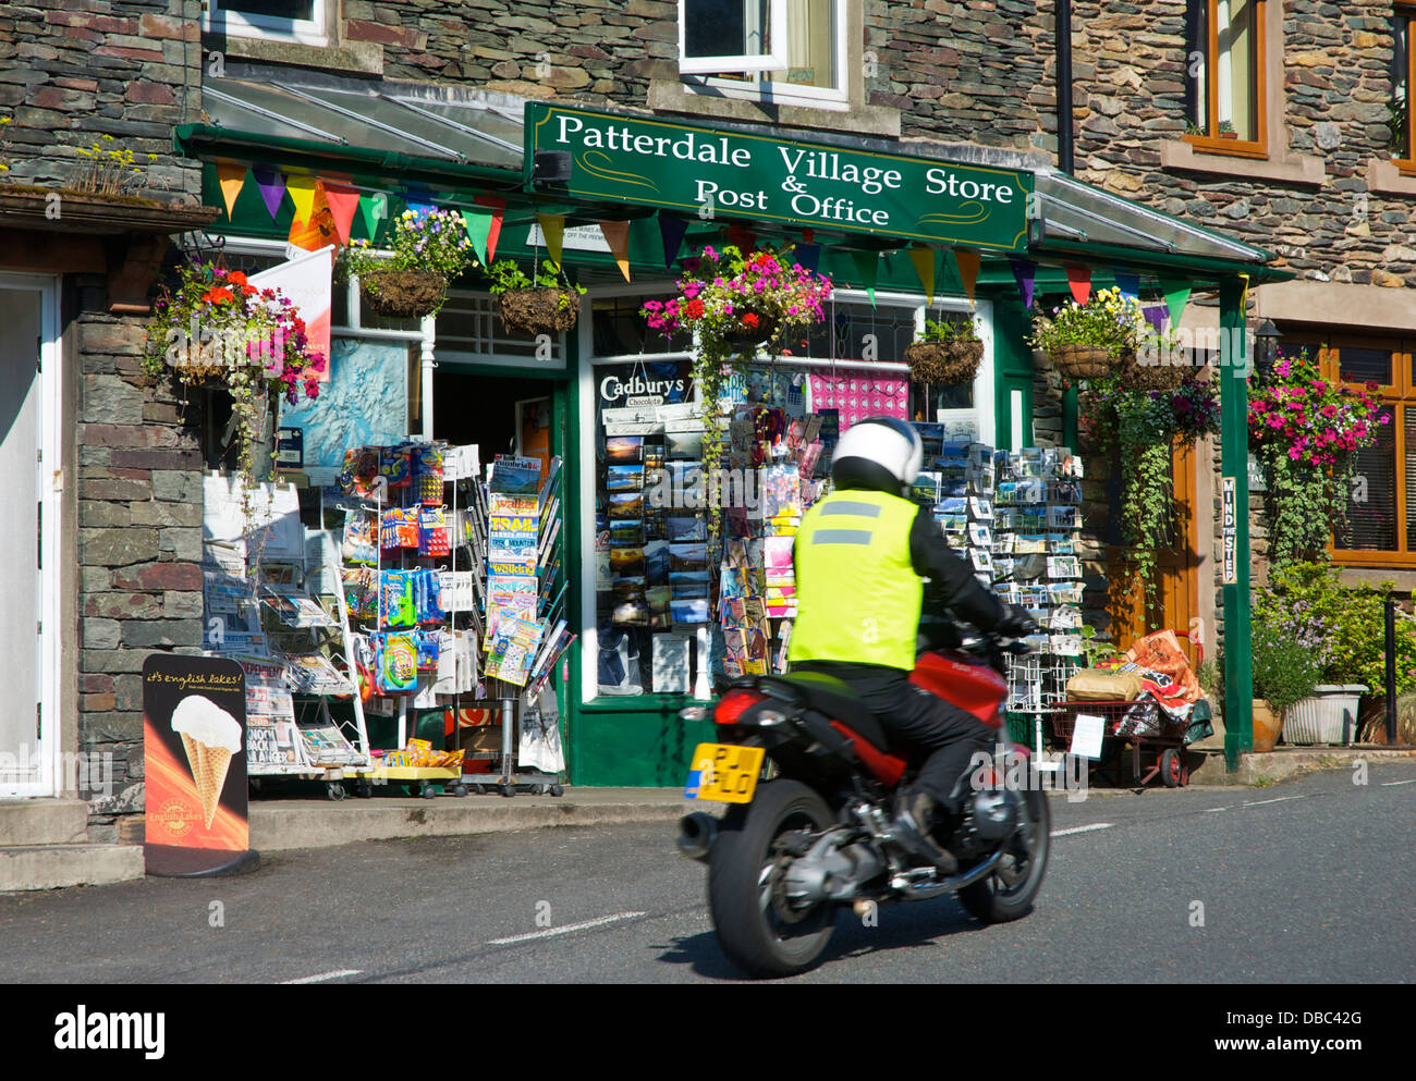
M 684 55 L 687 40 L 688 0 L 678 0 L 678 74 L 690 91 L 709 92 L 724 98 L 743 98 L 775 105 L 799 105 L 813 109 L 845 110 L 850 108 L 850 14 L 854 0 L 835 0 L 835 75 L 837 86 L 807 86 L 797 82 L 776 82 L 758 79 L 738 82 L 715 78 L 722 72 L 763 75 L 769 71 L 784 71 L 789 67 L 786 55 L 787 4 L 786 0 L 767 0 L 772 4 L 772 38 L 782 42 L 782 51 L 763 57 L 700 57 Z

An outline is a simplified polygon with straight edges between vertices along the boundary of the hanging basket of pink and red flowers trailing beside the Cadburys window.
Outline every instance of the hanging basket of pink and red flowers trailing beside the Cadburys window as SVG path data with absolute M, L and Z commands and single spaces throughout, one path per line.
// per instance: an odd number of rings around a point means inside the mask
M 790 255 L 758 249 L 745 255 L 729 245 L 712 246 L 684 260 L 678 296 L 650 300 L 640 308 L 654 330 L 692 331 L 697 344 L 694 382 L 704 402 L 704 473 L 712 475 L 722 454 L 724 417 L 718 407 L 722 385 L 735 357 L 755 357 L 763 345 L 776 354 L 783 335 L 826 318 L 831 279 L 809 270 Z M 712 536 L 719 532 L 716 509 L 708 515 Z

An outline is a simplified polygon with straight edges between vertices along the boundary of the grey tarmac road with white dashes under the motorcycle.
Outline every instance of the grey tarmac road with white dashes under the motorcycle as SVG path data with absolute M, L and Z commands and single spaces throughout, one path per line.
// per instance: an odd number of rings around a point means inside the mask
M 1031 915 L 843 914 L 801 982 L 1412 982 L 1416 763 L 1052 799 Z M 0 981 L 718 982 L 705 870 L 613 825 L 280 852 L 235 879 L 0 896 Z M 219 918 L 218 918 L 219 917 Z M 539 921 L 538 921 L 539 917 Z M 219 924 L 219 925 L 214 925 Z

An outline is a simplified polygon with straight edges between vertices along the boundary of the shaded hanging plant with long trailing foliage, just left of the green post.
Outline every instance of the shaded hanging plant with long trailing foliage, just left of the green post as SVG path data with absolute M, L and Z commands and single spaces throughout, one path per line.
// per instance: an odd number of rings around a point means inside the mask
M 1082 403 L 1087 441 L 1099 453 L 1119 458 L 1130 582 L 1151 607 L 1160 600 L 1157 555 L 1171 543 L 1175 521 L 1171 457 L 1177 447 L 1219 432 L 1218 392 L 1205 375 L 1202 369 L 1191 371 L 1174 389 L 1137 391 L 1116 372 L 1093 381 Z

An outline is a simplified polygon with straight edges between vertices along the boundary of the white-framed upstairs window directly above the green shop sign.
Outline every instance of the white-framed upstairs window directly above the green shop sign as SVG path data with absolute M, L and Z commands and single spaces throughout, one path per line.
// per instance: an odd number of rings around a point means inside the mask
M 714 92 L 845 99 L 848 0 L 680 0 L 678 71 Z

